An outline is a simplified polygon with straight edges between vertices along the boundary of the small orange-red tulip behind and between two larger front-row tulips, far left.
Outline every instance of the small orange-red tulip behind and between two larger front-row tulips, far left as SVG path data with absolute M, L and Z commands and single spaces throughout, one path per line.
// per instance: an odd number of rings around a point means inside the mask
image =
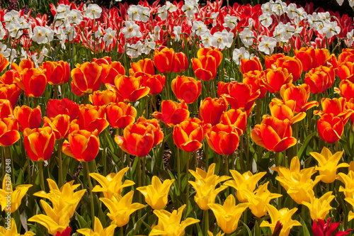
M 69 135 L 70 118 L 68 115 L 59 114 L 55 118 L 43 117 L 43 127 L 49 126 L 55 135 L 55 140 L 62 140 Z

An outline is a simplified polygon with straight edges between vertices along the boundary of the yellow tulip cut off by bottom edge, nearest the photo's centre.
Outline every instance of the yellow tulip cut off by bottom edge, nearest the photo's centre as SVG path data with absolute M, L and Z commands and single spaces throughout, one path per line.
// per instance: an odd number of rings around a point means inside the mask
M 154 210 L 154 214 L 159 218 L 159 222 L 152 228 L 149 236 L 183 236 L 185 227 L 199 222 L 199 220 L 193 218 L 187 218 L 181 222 L 184 208 L 185 205 L 178 208 L 178 210 L 173 210 L 172 213 L 167 210 Z

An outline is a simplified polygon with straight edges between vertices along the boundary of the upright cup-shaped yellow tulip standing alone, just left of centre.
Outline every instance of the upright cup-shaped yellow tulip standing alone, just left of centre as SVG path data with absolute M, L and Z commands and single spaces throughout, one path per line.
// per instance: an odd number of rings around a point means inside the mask
M 139 187 L 137 190 L 144 195 L 145 201 L 149 206 L 154 210 L 162 210 L 167 204 L 167 197 L 173 181 L 174 179 L 166 179 L 164 184 L 161 184 L 159 177 L 152 176 L 151 185 Z

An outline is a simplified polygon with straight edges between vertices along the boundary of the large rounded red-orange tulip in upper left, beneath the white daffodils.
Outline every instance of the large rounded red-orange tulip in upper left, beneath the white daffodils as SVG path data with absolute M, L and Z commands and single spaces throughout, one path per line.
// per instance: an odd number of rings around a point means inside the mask
M 92 94 L 93 91 L 100 89 L 102 79 L 102 67 L 96 62 L 85 62 L 76 64 L 72 69 L 72 84 L 83 94 Z

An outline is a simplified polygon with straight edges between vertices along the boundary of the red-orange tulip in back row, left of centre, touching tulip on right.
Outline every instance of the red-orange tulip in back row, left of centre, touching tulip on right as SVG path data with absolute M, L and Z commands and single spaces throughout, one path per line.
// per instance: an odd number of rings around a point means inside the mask
M 154 64 L 156 69 L 163 74 L 173 72 L 175 67 L 175 52 L 173 49 L 163 46 L 155 49 Z

